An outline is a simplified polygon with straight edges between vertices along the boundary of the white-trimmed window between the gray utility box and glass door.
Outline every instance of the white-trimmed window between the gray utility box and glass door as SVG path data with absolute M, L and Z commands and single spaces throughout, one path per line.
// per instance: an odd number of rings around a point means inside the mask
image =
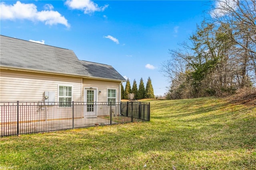
M 59 105 L 71 105 L 72 102 L 72 86 L 60 85 L 59 89 Z

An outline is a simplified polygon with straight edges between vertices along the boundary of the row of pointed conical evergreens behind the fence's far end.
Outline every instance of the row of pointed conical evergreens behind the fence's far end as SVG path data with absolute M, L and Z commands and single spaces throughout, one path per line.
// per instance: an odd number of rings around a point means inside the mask
M 130 80 L 126 80 L 125 89 L 121 84 L 121 99 L 154 99 L 154 89 L 151 83 L 150 77 L 148 77 L 148 81 L 146 84 L 146 88 L 144 86 L 143 79 L 140 79 L 139 88 L 137 87 L 137 82 L 134 79 L 133 85 L 131 88 Z

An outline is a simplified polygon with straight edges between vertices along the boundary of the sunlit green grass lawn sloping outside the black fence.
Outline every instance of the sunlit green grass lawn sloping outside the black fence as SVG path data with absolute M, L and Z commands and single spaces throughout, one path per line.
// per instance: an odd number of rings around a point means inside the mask
M 256 169 L 256 107 L 151 100 L 150 122 L 0 138 L 0 169 Z

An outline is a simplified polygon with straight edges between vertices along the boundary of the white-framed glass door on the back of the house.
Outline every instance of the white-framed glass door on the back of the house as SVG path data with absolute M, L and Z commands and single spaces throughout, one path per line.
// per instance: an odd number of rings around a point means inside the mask
M 96 89 L 85 89 L 85 117 L 96 117 Z

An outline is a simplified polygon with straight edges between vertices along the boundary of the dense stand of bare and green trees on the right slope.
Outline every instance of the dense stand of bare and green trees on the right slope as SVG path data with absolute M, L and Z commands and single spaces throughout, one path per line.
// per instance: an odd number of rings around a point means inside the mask
M 170 49 L 167 99 L 225 96 L 256 83 L 256 0 L 216 0 L 210 18 Z

